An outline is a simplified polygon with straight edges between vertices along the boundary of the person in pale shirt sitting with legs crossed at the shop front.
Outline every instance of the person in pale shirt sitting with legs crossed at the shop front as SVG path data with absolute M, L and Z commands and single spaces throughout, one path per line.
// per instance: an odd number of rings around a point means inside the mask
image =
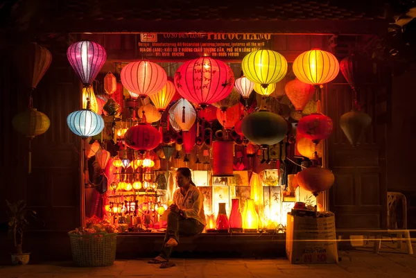
M 148 263 L 162 263 L 160 268 L 175 266 L 168 263 L 172 247 L 179 243 L 179 236 L 195 236 L 205 227 L 204 196 L 191 179 L 189 168 L 178 168 L 176 184 L 179 187 L 173 193 L 173 203 L 169 207 L 168 225 L 162 252 Z

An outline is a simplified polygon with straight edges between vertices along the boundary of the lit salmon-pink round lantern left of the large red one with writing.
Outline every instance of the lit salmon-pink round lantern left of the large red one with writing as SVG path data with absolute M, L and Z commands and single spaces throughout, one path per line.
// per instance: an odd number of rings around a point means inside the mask
M 148 61 L 130 62 L 121 69 L 120 77 L 123 86 L 141 98 L 159 92 L 168 80 L 162 67 Z

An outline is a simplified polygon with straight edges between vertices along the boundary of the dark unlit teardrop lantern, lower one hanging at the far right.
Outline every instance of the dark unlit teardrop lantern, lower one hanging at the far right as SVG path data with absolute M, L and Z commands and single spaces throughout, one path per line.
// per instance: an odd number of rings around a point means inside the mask
M 371 117 L 361 111 L 352 110 L 341 116 L 340 126 L 349 143 L 358 146 L 363 140 L 365 130 L 371 125 Z

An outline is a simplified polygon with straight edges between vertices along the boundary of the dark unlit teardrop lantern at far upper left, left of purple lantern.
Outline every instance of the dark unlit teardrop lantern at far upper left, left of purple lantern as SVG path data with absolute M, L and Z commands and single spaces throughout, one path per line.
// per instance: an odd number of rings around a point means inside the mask
M 21 82 L 33 89 L 36 88 L 52 62 L 51 52 L 34 42 L 18 46 L 13 58 Z

